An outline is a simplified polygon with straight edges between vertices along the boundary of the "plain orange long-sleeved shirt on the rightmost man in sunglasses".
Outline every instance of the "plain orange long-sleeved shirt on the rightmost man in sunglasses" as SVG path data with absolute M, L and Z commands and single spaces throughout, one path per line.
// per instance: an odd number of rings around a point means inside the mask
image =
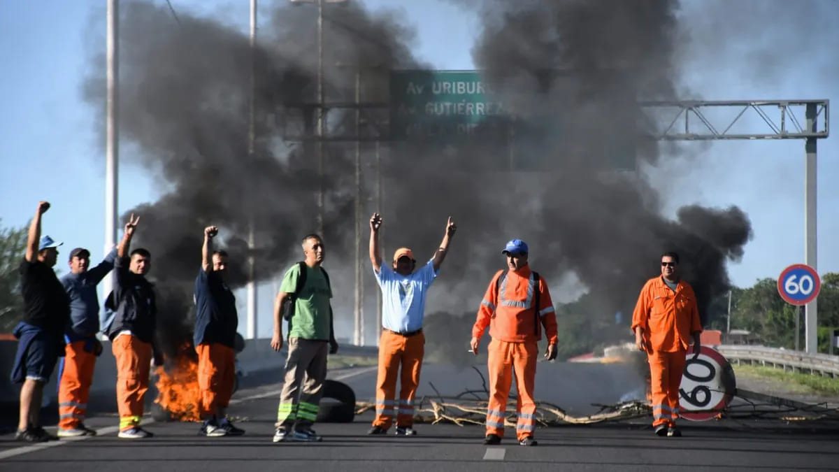
M 638 326 L 643 329 L 644 339 L 654 351 L 687 349 L 690 334 L 702 331 L 693 287 L 679 281 L 674 292 L 660 276 L 647 281 L 638 295 L 632 315 L 633 333 Z

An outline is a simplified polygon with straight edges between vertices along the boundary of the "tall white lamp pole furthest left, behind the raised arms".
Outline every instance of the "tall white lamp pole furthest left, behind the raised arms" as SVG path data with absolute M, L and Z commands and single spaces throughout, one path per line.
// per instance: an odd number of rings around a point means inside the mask
M 117 88 L 119 84 L 119 13 L 117 0 L 107 3 L 107 124 L 105 134 L 105 254 L 117 244 L 117 164 L 119 143 L 117 142 Z M 113 289 L 113 278 L 109 273 L 103 281 L 102 290 L 107 294 Z

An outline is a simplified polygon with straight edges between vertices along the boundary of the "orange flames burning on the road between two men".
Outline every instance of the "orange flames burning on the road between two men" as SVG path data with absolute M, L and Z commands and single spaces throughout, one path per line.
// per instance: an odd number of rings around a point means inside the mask
M 158 396 L 154 402 L 162 406 L 175 421 L 201 421 L 198 361 L 192 344 L 180 347 L 174 365 L 169 365 L 168 369 L 157 367 L 154 373 L 158 376 L 155 384 Z

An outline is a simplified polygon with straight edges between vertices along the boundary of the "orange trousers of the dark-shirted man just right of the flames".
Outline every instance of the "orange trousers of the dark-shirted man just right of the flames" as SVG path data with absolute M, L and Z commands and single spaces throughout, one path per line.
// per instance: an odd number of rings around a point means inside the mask
M 201 415 L 215 415 L 227 408 L 236 378 L 236 353 L 224 344 L 198 344 L 198 389 L 201 391 Z

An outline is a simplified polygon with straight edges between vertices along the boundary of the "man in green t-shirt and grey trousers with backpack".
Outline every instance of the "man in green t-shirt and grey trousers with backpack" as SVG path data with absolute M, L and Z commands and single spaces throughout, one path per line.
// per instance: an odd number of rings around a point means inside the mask
M 320 268 L 324 257 L 320 236 L 305 236 L 303 254 L 305 264 L 295 264 L 286 270 L 274 300 L 271 348 L 275 351 L 283 349 L 284 311 L 293 310 L 289 317 L 289 357 L 285 361 L 285 381 L 277 410 L 274 443 L 284 441 L 285 438 L 292 441 L 320 441 L 320 436 L 312 430 L 311 425 L 317 417 L 326 379 L 327 350 L 331 354 L 338 350 L 332 332 L 329 303 L 332 290 L 328 275 Z M 301 270 L 305 270 L 305 282 L 298 293 Z M 288 301 L 291 303 L 286 307 Z

